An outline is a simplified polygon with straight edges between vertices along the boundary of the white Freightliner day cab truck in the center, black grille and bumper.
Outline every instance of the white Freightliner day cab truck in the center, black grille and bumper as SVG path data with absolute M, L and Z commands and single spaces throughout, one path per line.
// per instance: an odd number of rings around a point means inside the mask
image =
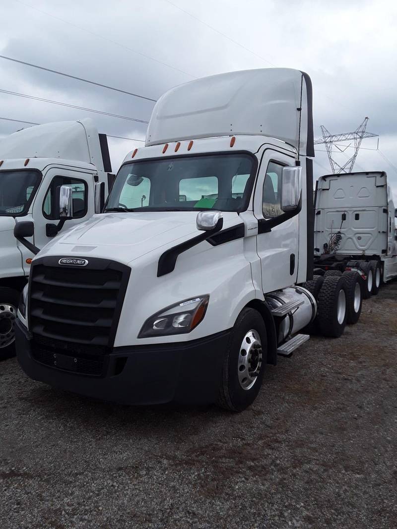
M 312 156 L 301 71 L 167 92 L 103 213 L 33 259 L 16 330 L 23 370 L 119 403 L 246 408 L 266 364 L 308 340 L 303 329 L 339 336 L 353 299 L 345 277 L 312 280 Z M 62 214 L 69 206 L 62 197 Z

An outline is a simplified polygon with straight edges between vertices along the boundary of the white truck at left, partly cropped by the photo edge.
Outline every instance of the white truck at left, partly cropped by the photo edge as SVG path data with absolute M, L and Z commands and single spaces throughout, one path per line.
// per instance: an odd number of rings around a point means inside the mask
M 91 217 L 95 190 L 101 211 L 110 174 L 106 135 L 90 119 L 33 126 L 0 141 L 0 359 L 14 352 L 14 320 L 34 247 Z M 62 186 L 70 188 L 74 211 L 65 226 L 59 217 Z M 13 234 L 25 221 L 34 226 L 28 248 Z

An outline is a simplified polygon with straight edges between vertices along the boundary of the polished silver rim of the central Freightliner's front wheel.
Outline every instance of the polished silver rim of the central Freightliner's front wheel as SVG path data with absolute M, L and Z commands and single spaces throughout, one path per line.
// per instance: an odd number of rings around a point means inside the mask
M 240 386 L 248 390 L 254 386 L 262 365 L 262 344 L 259 333 L 251 329 L 240 345 L 237 373 Z

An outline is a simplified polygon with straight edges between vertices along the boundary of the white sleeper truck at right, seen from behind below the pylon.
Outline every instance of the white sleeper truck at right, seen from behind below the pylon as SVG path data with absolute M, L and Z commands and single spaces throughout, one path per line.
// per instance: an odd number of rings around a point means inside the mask
M 315 273 L 357 270 L 364 298 L 397 277 L 396 210 L 384 171 L 322 176 L 315 191 Z M 332 270 L 332 272 L 329 272 Z

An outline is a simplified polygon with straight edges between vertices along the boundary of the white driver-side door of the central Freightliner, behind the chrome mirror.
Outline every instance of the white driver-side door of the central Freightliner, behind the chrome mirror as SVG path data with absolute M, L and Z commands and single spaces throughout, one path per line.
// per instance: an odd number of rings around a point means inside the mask
M 261 261 L 262 287 L 265 293 L 291 286 L 296 281 L 299 247 L 299 215 L 282 219 L 281 180 L 285 166 L 294 166 L 295 158 L 281 152 L 266 149 L 254 196 L 254 214 L 258 220 L 272 219 L 271 231 L 257 235 L 257 252 Z

